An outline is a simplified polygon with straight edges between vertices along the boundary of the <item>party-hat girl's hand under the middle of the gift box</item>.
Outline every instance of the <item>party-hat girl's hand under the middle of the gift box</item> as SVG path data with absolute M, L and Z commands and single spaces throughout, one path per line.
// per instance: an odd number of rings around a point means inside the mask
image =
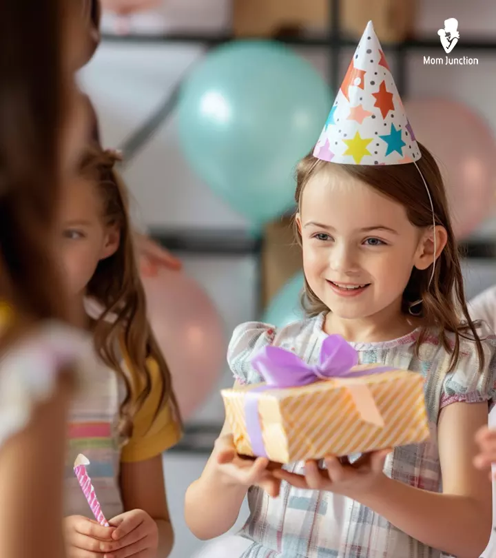
M 329 490 L 354 498 L 354 495 L 363 494 L 385 478 L 384 462 L 389 453 L 391 450 L 366 453 L 353 464 L 343 464 L 337 457 L 327 457 L 324 459 L 326 469 L 320 469 L 315 461 L 307 461 L 304 475 L 284 469 L 273 471 L 273 475 L 296 488 Z

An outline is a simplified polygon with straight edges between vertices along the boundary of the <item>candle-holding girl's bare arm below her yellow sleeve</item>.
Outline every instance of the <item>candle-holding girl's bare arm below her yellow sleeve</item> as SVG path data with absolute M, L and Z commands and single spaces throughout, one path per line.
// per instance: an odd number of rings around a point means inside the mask
M 121 463 L 121 495 L 125 511 L 143 510 L 158 528 L 157 556 L 169 556 L 174 530 L 169 517 L 162 455 L 135 463 Z

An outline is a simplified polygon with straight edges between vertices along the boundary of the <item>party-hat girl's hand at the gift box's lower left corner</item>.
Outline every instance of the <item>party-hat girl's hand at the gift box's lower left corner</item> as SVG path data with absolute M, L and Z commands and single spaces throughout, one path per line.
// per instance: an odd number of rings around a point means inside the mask
M 280 479 L 273 475 L 281 467 L 269 462 L 265 457 L 241 457 L 236 453 L 231 434 L 220 436 L 214 448 L 218 471 L 224 475 L 228 484 L 240 486 L 260 486 L 269 496 L 276 498 L 280 492 Z

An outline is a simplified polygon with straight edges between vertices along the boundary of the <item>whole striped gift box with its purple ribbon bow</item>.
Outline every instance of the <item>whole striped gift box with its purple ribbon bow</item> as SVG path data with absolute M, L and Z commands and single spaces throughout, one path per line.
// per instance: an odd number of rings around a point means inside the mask
M 422 375 L 357 365 L 357 358 L 335 335 L 316 366 L 278 347 L 262 349 L 253 364 L 267 383 L 221 392 L 238 453 L 288 464 L 424 442 Z

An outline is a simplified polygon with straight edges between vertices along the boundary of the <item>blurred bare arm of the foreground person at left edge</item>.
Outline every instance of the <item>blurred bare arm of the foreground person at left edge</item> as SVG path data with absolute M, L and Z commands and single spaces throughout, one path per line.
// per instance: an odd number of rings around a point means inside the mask
M 71 393 L 69 375 L 61 373 L 54 394 L 0 447 L 0 556 L 65 556 L 62 479 Z

